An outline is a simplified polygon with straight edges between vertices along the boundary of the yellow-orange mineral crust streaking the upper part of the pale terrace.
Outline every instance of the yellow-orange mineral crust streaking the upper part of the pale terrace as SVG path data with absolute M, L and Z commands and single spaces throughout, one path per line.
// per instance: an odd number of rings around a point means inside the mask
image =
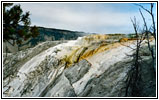
M 89 42 L 89 45 L 81 45 L 75 48 L 72 47 L 72 51 L 69 54 L 65 55 L 63 59 L 66 62 L 66 67 L 69 67 L 72 64 L 79 62 L 80 60 L 87 60 L 87 58 L 93 56 L 94 54 L 121 46 L 120 43 L 108 44 L 106 42 L 95 42 L 106 40 L 107 37 L 107 35 L 90 35 L 84 37 L 84 39 Z M 94 44 L 92 45 L 91 43 L 93 42 Z M 127 44 L 127 42 L 125 42 L 124 44 Z

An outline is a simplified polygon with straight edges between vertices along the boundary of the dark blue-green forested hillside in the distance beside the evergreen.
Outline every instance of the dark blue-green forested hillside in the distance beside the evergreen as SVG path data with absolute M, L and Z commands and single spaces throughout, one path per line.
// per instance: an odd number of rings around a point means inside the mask
M 78 31 L 45 28 L 45 27 L 38 27 L 38 28 L 39 28 L 40 35 L 36 38 L 30 39 L 24 45 L 31 43 L 32 46 L 35 46 L 37 45 L 37 43 L 44 42 L 44 41 L 76 40 L 78 37 L 87 35 L 87 33 L 78 32 Z

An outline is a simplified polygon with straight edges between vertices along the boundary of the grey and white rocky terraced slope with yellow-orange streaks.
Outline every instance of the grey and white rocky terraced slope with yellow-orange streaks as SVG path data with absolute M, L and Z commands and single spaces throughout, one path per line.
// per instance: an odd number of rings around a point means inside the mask
M 45 42 L 8 54 L 3 64 L 4 97 L 124 97 L 134 41 L 110 43 L 105 35 L 66 43 Z M 155 71 L 143 55 L 140 96 L 155 96 Z

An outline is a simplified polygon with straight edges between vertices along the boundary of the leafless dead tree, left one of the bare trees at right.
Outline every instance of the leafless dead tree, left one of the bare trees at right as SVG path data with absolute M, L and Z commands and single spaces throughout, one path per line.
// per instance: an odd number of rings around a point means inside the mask
M 139 34 L 139 32 L 138 32 L 139 26 L 137 24 L 135 17 L 133 20 L 131 19 L 131 22 L 133 24 L 133 28 L 134 28 L 135 35 L 136 35 L 136 48 L 135 49 L 133 48 L 133 50 L 135 50 L 135 53 L 132 55 L 129 55 L 129 56 L 133 57 L 133 64 L 128 72 L 128 77 L 126 79 L 125 96 L 138 96 L 139 89 L 140 89 L 138 84 L 141 81 L 140 61 L 142 60 L 139 55 L 139 51 L 141 48 L 141 43 L 143 42 L 145 36 L 144 36 L 144 33 Z M 131 93 L 131 94 L 129 94 L 129 93 Z

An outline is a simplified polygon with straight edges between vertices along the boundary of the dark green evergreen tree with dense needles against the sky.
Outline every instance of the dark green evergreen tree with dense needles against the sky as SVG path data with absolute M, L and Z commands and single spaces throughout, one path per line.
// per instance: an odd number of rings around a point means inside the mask
M 20 5 L 3 3 L 3 40 L 11 45 L 22 44 L 23 40 L 39 35 L 36 26 L 30 27 L 30 12 L 23 13 Z

